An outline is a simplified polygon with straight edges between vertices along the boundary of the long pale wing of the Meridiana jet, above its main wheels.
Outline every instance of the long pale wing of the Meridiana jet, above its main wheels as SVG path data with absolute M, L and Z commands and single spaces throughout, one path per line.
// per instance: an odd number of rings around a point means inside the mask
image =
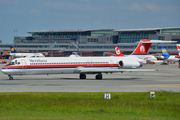
M 156 71 L 155 69 L 103 69 L 103 68 L 81 68 L 80 73 L 96 74 L 96 73 L 113 73 L 113 72 L 142 72 L 142 71 Z

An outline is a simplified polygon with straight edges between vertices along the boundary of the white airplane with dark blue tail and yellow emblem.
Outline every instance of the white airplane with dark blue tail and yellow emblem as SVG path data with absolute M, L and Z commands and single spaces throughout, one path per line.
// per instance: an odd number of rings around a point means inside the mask
M 18 53 L 16 52 L 15 48 L 13 46 L 10 46 L 11 55 L 14 58 L 19 58 L 19 57 L 45 57 L 42 53 Z

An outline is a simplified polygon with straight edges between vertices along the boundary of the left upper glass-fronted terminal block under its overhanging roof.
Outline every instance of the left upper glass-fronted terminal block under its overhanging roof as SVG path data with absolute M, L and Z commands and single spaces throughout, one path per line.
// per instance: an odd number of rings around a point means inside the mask
M 32 31 L 31 37 L 15 37 L 14 43 L 71 43 L 106 44 L 117 41 L 117 32 L 112 29 L 103 30 L 66 30 L 66 31 Z M 116 34 L 115 34 L 116 33 Z

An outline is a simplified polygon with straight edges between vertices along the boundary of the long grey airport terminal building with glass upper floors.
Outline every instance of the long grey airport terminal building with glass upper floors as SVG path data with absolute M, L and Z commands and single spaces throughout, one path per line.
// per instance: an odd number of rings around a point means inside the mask
M 0 50 L 9 51 L 10 45 L 28 52 L 48 52 L 47 56 L 68 56 L 79 51 L 83 56 L 102 56 L 104 52 L 115 52 L 118 46 L 124 54 L 130 54 L 141 39 L 178 41 L 180 28 L 146 29 L 91 29 L 91 30 L 44 30 L 28 31 L 30 36 L 15 36 L 13 44 L 0 44 Z M 177 53 L 176 44 L 153 44 L 149 53 L 161 53 L 161 46 L 168 52 Z

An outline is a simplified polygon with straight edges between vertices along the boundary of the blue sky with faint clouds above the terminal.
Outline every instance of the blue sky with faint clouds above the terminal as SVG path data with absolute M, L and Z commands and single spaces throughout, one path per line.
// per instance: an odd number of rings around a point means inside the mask
M 0 40 L 37 30 L 180 27 L 180 0 L 0 0 Z

